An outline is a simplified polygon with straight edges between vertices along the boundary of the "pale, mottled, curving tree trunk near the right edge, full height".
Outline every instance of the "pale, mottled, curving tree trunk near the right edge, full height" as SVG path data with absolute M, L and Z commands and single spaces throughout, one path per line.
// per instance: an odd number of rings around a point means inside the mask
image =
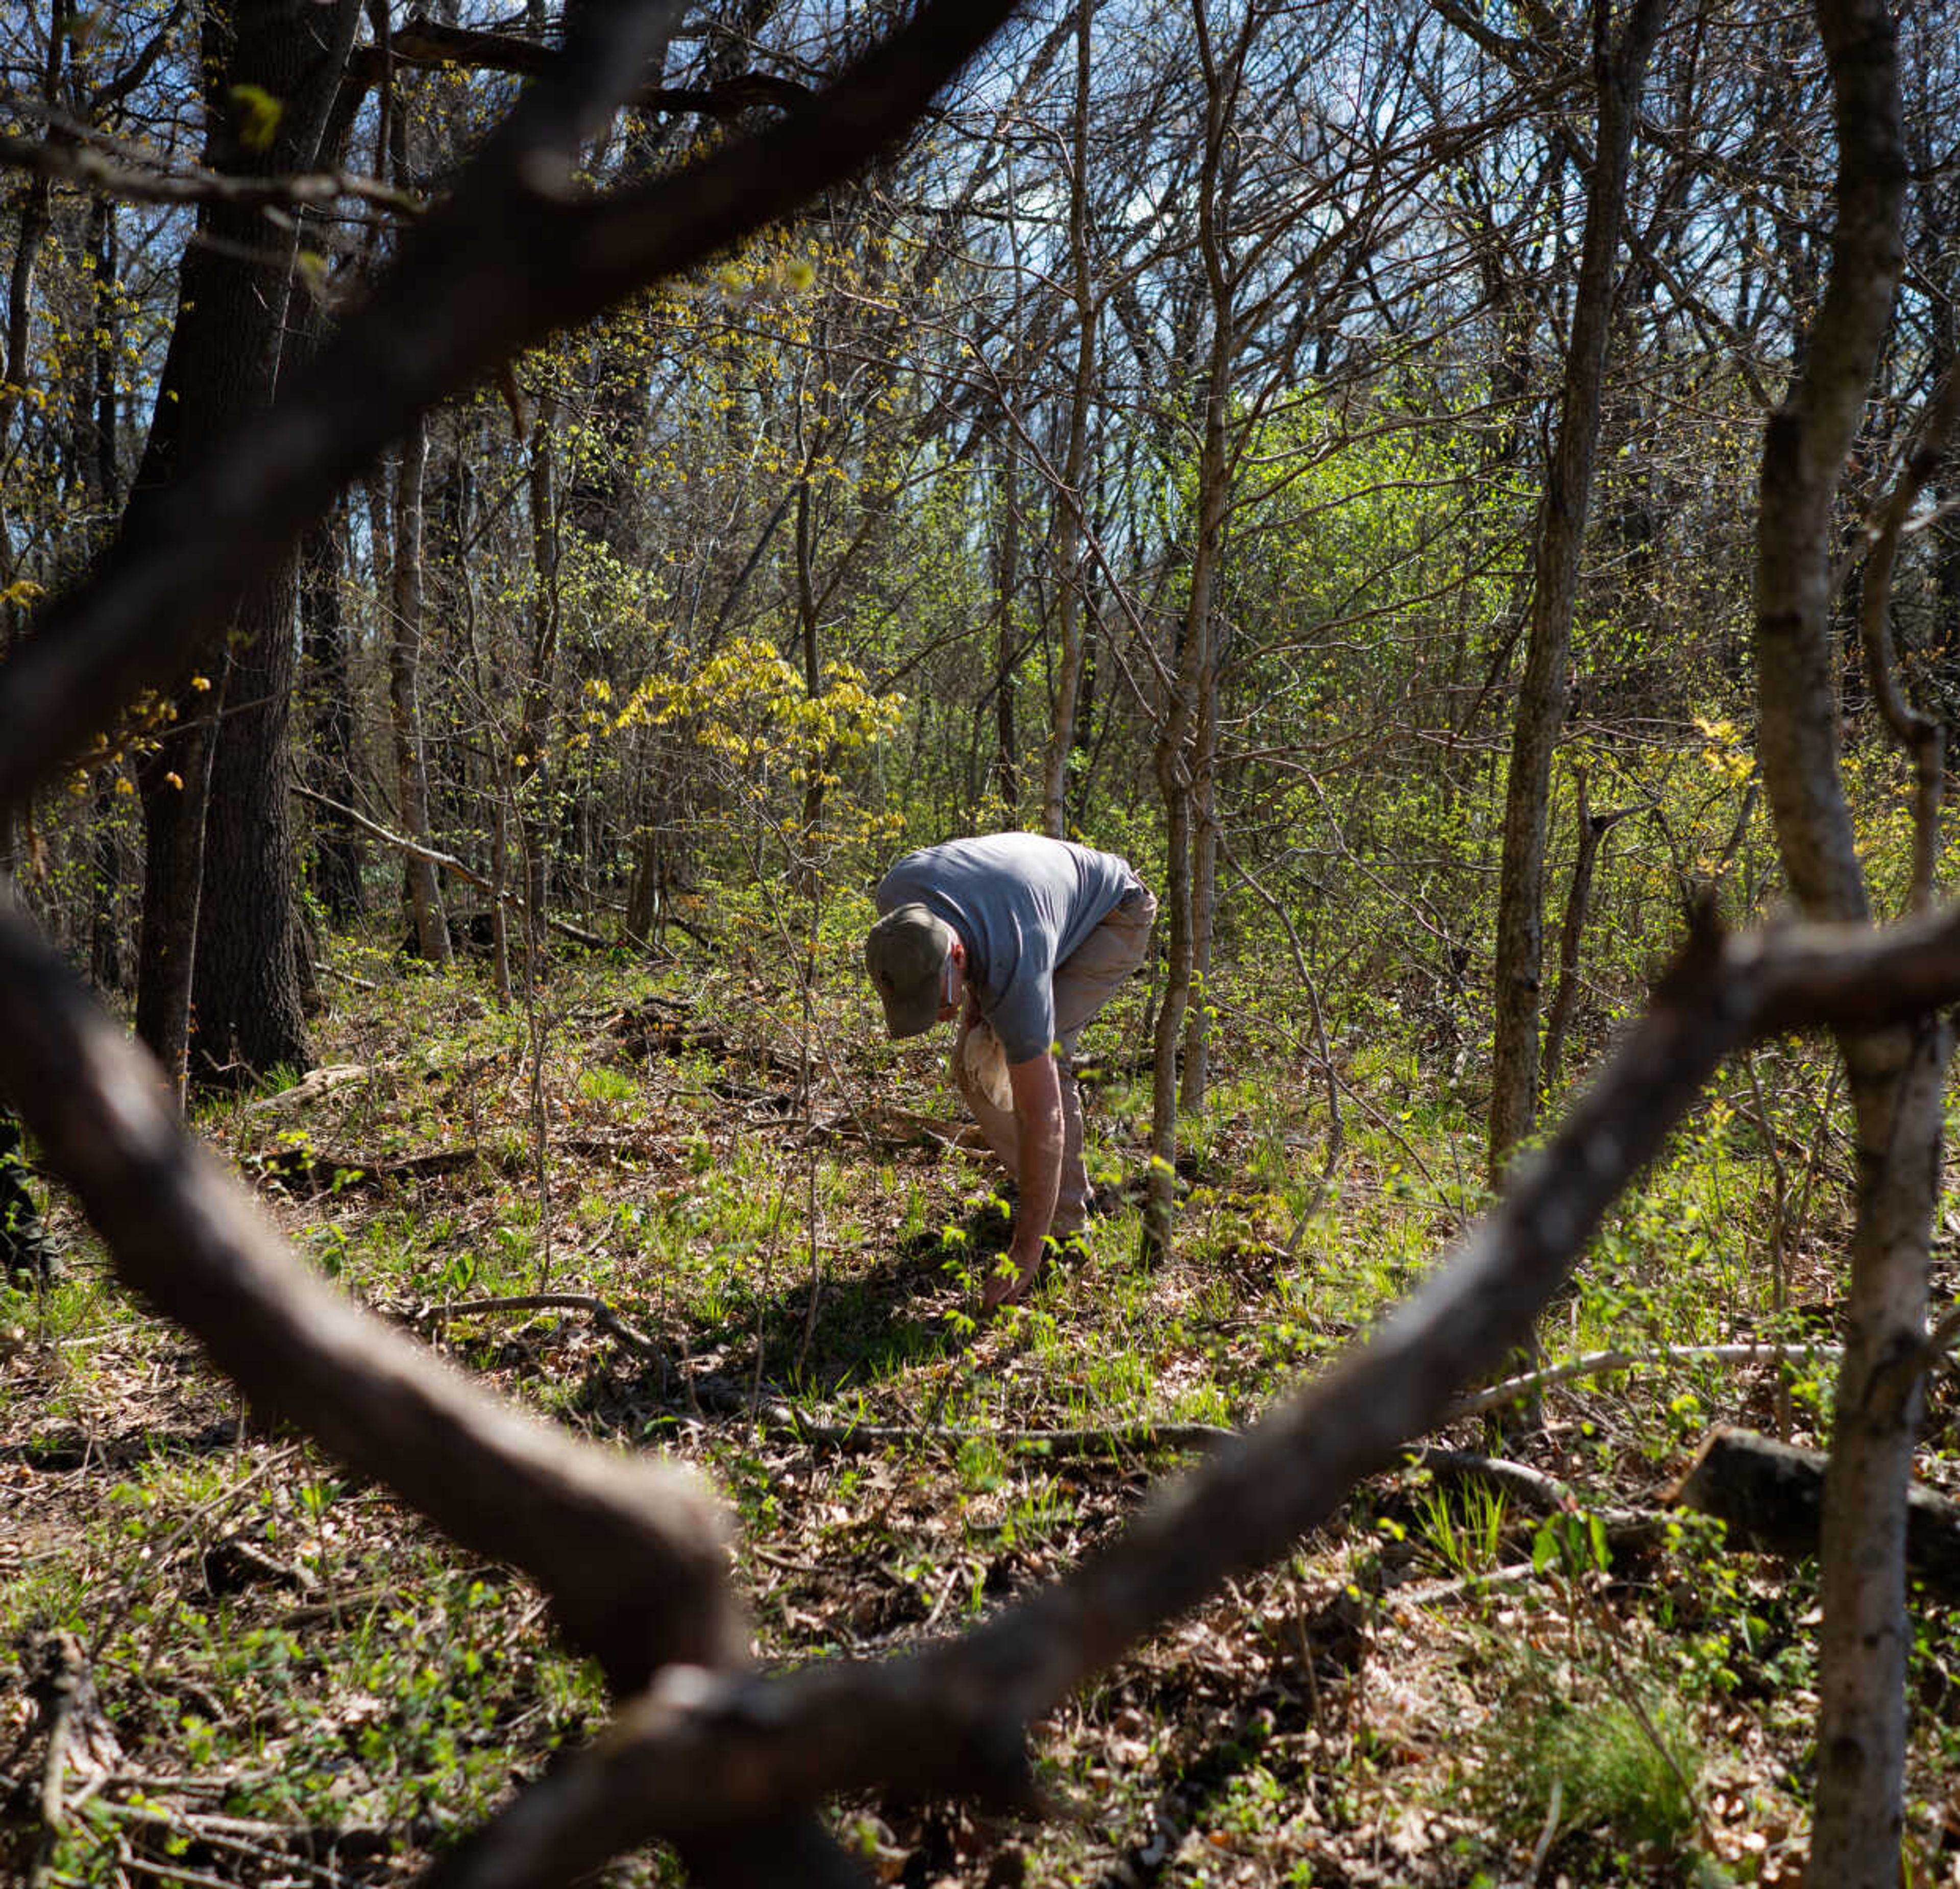
M 1817 0 L 1838 137 L 1831 276 L 1803 368 L 1770 417 L 1756 545 L 1762 776 L 1807 917 L 1870 905 L 1838 768 L 1833 502 L 1901 266 L 1897 47 L 1882 0 Z M 1905 1511 L 1923 1389 L 1940 1172 L 1944 1019 L 1840 1037 L 1858 1123 L 1844 1364 L 1823 1513 L 1817 1813 L 1807 1879 L 1895 1889 L 1905 1822 Z

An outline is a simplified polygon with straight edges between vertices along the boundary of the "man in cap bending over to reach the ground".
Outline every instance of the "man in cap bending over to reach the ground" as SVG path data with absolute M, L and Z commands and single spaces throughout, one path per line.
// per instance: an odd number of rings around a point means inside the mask
M 1049 1235 L 1088 1217 L 1082 1097 L 1066 1060 L 1082 1025 L 1141 962 L 1156 899 L 1113 852 L 1037 833 L 907 852 L 878 884 L 864 964 L 894 1037 L 958 1017 L 953 1080 L 1019 1189 L 1011 1272 L 986 1305 L 1021 1297 Z

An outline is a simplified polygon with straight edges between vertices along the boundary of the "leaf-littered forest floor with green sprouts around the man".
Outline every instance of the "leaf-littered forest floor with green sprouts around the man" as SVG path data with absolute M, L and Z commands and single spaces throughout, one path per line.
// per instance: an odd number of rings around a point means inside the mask
M 976 1323 L 1005 1207 L 945 1042 L 888 1046 L 853 958 L 841 935 L 808 997 L 768 962 L 570 960 L 502 1009 L 476 968 L 341 944 L 327 1068 L 200 1113 L 343 1289 L 555 1421 L 713 1477 L 772 1666 L 958 1630 L 1076 1564 L 1203 1427 L 1337 1354 L 1478 1207 L 1448 1042 L 1337 1044 L 1329 1162 L 1311 1064 L 1227 1015 L 1174 1258 L 1141 1266 L 1119 1205 L 1025 1311 Z M 1135 1056 L 1143 1001 L 1084 1048 Z M 1053 1818 L 837 1807 L 872 1875 L 1797 1883 L 1815 1566 L 1725 1544 L 1668 1491 L 1713 1425 L 1817 1440 L 1846 1164 L 1827 1113 L 1799 1133 L 1821 1068 L 1776 1052 L 1713 1097 L 1548 1315 L 1552 1362 L 1641 1358 L 1554 1383 L 1501 1442 L 1572 1501 L 1429 1470 L 1364 1485 L 1035 1728 Z M 1103 1074 L 1088 1095 L 1092 1166 L 1133 1195 L 1147 1084 Z M 604 1722 L 594 1673 L 508 1570 L 243 1421 L 59 1199 L 53 1219 L 63 1282 L 8 1291 L 0 1317 L 0 1879 L 412 1877 Z M 1952 1244 L 1942 1229 L 1946 1297 Z M 547 1293 L 564 1303 L 496 1303 Z M 1768 1338 L 1817 1354 L 1697 1356 Z M 1499 1446 L 1486 1421 L 1441 1440 Z M 1948 1374 L 1933 1487 L 1960 1493 L 1956 1454 Z M 1952 1595 L 1921 1595 L 1917 1621 L 1911 1881 L 1960 1885 Z M 35 1701 L 63 1666 L 92 1703 L 51 1771 Z M 674 1873 L 641 1856 L 608 1881 Z

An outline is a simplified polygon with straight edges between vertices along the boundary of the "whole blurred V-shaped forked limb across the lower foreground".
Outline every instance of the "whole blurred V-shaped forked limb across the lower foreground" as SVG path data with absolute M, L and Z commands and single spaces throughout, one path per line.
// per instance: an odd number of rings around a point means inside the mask
M 1513 1191 L 1380 1334 L 1172 1485 L 1076 1575 L 907 1660 L 762 1681 L 706 1497 L 580 1448 L 470 1389 L 298 1268 L 169 1107 L 153 1066 L 12 907 L 0 909 L 0 1084 L 82 1197 L 118 1270 L 247 1391 L 551 1597 L 621 1689 L 664 1664 L 586 1756 L 443 1864 L 445 1881 L 563 1883 L 666 1836 L 711 1881 L 839 1881 L 808 1811 L 835 1789 L 1033 1803 L 1025 1728 L 1143 1634 L 1325 1521 L 1394 1468 L 1454 1387 L 1515 1346 L 1599 1215 L 1713 1068 L 1801 1025 L 1886 1025 L 1960 999 L 1960 911 L 1889 931 L 1697 941 Z M 715 1670 L 719 1668 L 719 1670 Z M 727 1832 L 743 1832 L 729 1848 Z M 727 1838 L 727 1840 L 725 1840 Z

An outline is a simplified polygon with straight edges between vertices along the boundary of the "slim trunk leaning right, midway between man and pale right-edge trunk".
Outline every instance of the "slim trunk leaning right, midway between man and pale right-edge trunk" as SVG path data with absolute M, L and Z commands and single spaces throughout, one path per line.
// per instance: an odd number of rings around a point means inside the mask
M 1599 441 L 1599 390 L 1613 319 L 1613 272 L 1627 204 L 1633 121 L 1646 57 L 1666 0 L 1633 0 L 1619 41 L 1609 0 L 1595 0 L 1593 73 L 1599 135 L 1586 182 L 1572 345 L 1558 413 L 1558 445 L 1546 468 L 1539 513 L 1537 584 L 1525 647 L 1525 678 L 1511 725 L 1511 774 L 1503 805 L 1503 864 L 1497 884 L 1495 1039 L 1492 1044 L 1490 1180 L 1503 1178 L 1511 1148 L 1531 1135 L 1539 1109 L 1539 995 L 1544 964 L 1544 819 L 1552 754 L 1566 719 L 1572 611 Z

